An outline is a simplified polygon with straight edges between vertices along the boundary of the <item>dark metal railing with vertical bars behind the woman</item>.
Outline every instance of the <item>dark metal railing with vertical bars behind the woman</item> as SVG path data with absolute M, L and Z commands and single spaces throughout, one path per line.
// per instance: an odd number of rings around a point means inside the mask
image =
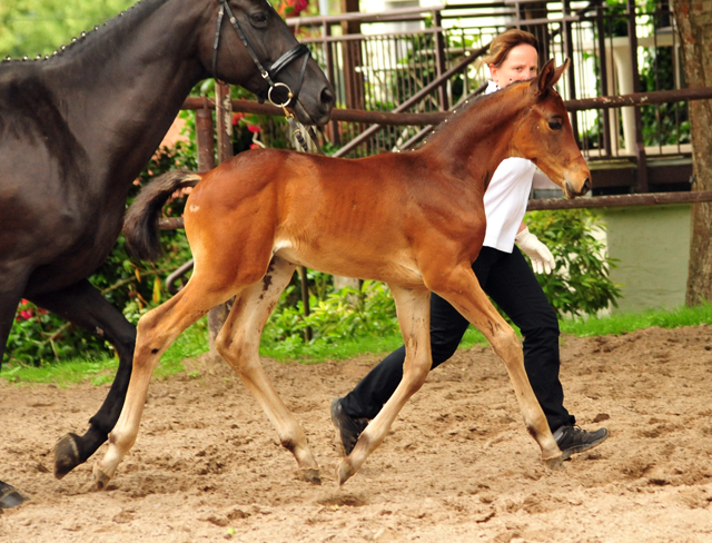
M 337 90 L 337 107 L 369 111 L 446 111 L 482 91 L 487 70 L 476 57 L 507 28 L 533 32 L 542 61 L 573 60 L 561 85 L 565 99 L 672 90 L 684 87 L 674 18 L 629 0 L 546 4 L 526 0 L 409 8 L 383 13 L 299 18 L 308 43 Z M 659 2 L 660 3 L 660 2 Z M 437 85 L 442 82 L 442 85 Z M 590 161 L 689 156 L 686 102 L 589 110 L 572 115 Z M 383 127 L 334 121 L 328 139 L 357 157 L 413 145 L 422 127 Z M 356 141 L 356 144 L 354 144 Z

